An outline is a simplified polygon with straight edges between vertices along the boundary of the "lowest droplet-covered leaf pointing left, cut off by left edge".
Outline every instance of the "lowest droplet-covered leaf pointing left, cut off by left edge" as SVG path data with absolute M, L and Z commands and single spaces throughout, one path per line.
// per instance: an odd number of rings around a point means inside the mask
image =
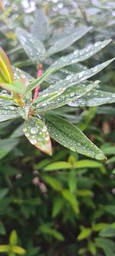
M 12 118 L 18 118 L 18 109 L 15 106 L 0 107 L 0 122 Z

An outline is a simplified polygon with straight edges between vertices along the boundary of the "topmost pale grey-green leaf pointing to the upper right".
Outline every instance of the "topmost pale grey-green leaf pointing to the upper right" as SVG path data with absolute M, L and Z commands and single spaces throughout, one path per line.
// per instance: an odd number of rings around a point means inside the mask
M 87 32 L 90 31 L 92 27 L 80 27 L 74 32 L 64 35 L 64 37 L 59 38 L 51 48 L 48 49 L 47 56 L 53 55 L 54 53 L 61 52 L 69 46 L 73 45 L 74 42 L 82 38 Z

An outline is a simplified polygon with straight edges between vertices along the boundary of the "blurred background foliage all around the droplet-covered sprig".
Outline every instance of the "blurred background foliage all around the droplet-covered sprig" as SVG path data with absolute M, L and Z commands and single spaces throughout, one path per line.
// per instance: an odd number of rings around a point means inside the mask
M 39 5 L 38 1 L 17 1 L 16 4 L 10 1 L 5 5 L 0 2 L 0 8 L 1 46 L 12 65 L 34 77 L 36 65 L 31 63 L 17 40 L 15 29 L 18 25 L 38 33 L 45 45 L 56 42 L 62 34 L 69 33 L 78 25 L 93 26 L 90 33 L 67 48 L 65 53 L 97 40 L 112 38 L 114 41 L 115 4 L 112 1 L 49 1 L 39 2 Z M 38 17 L 41 17 L 39 22 Z M 105 62 L 113 58 L 113 52 L 112 42 L 102 52 L 86 60 L 84 65 L 68 66 L 65 72 L 71 74 L 77 68 L 91 68 L 100 59 Z M 58 57 L 61 57 L 61 52 L 51 57 L 48 63 L 45 62 L 46 68 Z M 114 63 L 96 76 L 102 81 L 101 89 L 115 92 Z M 56 81 L 59 78 L 64 78 L 64 71 L 51 75 L 49 79 Z M 54 141 L 53 156 L 47 157 L 22 136 L 19 121 L 1 123 L 0 244 L 3 246 L 15 241 L 13 246 L 18 247 L 18 251 L 11 251 L 10 256 L 25 251 L 28 256 L 113 256 L 113 105 L 91 108 L 65 106 L 55 110 L 55 113 L 81 128 L 104 151 L 107 161 L 90 160 Z

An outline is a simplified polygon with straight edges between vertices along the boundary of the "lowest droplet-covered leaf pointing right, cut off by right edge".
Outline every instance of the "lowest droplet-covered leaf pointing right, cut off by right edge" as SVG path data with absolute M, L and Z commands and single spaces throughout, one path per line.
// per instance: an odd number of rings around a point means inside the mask
M 113 102 L 115 102 L 115 93 L 92 90 L 91 92 L 88 92 L 86 95 L 84 95 L 82 98 L 79 98 L 76 101 L 70 101 L 68 105 L 72 107 L 93 107 L 103 104 L 110 104 Z

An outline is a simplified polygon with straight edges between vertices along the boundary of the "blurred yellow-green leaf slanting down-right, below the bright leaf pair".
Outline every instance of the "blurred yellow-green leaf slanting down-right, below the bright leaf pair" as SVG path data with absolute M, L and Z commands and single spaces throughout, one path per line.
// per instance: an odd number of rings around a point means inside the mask
M 71 192 L 67 189 L 64 189 L 61 193 L 62 193 L 64 199 L 66 201 L 68 201 L 69 204 L 71 204 L 71 207 L 73 208 L 74 212 L 76 214 L 78 214 L 79 213 L 79 205 L 78 205 L 77 198 L 75 198 L 74 194 L 71 194 Z

